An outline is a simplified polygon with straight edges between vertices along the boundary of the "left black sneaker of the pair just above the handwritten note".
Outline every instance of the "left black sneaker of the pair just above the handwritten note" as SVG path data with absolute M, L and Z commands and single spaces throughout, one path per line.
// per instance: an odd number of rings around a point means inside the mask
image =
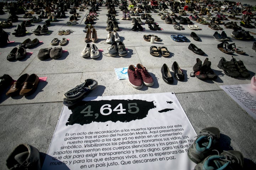
M 230 77 L 237 78 L 240 73 L 233 61 L 226 61 L 224 57 L 219 61 L 218 67 L 223 69 L 224 73 Z

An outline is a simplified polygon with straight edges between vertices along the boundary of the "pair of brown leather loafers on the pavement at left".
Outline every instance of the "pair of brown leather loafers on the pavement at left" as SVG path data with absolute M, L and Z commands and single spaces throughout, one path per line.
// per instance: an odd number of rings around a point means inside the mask
M 37 88 L 39 77 L 36 74 L 23 74 L 11 88 L 6 92 L 7 96 L 28 96 L 31 95 Z

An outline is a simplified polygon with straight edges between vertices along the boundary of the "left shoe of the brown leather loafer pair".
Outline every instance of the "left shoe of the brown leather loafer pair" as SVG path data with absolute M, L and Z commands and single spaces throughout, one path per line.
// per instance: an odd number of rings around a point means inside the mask
M 21 75 L 20 78 L 14 84 L 11 86 L 11 88 L 6 92 L 7 96 L 16 96 L 19 94 L 22 86 L 24 83 L 27 81 L 29 75 L 28 74 L 23 74 Z

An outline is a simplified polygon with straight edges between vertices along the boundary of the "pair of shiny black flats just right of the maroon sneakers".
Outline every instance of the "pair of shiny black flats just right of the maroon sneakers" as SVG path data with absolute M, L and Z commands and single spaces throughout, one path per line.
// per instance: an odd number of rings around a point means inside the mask
M 178 81 L 183 81 L 185 79 L 185 75 L 183 74 L 182 70 L 178 66 L 178 63 L 175 61 L 172 64 L 172 71 L 174 71 L 174 77 Z M 161 68 L 162 73 L 162 79 L 167 84 L 172 84 L 174 82 L 174 78 L 172 77 L 172 74 L 170 72 L 170 69 L 166 64 L 164 64 Z

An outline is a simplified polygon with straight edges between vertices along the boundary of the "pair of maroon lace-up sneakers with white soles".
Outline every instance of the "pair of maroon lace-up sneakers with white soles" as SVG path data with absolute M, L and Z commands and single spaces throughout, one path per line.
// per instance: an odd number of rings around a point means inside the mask
M 127 73 L 130 85 L 135 89 L 142 88 L 143 83 L 146 86 L 153 86 L 154 84 L 153 78 L 142 64 L 137 64 L 136 67 L 134 65 L 130 65 Z

